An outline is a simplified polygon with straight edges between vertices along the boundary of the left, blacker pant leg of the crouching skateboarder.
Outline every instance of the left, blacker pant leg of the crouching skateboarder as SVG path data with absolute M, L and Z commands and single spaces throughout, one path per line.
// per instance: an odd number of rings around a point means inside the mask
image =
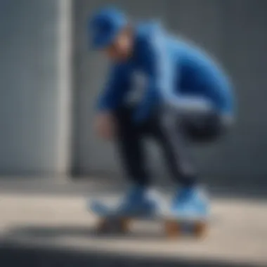
M 143 130 L 132 119 L 133 108 L 121 108 L 115 112 L 117 120 L 117 150 L 122 169 L 131 182 L 148 185 L 149 176 L 145 164 Z

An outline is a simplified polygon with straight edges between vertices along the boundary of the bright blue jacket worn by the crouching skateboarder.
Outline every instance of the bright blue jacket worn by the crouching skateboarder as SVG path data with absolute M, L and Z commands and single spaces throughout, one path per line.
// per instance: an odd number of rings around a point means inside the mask
M 110 67 L 108 83 L 100 94 L 98 110 L 115 110 L 131 93 L 134 72 L 147 84 L 134 118 L 143 121 L 155 105 L 190 105 L 204 98 L 221 114 L 233 115 L 233 92 L 226 74 L 198 48 L 165 32 L 156 23 L 141 23 L 134 30 L 133 56 Z

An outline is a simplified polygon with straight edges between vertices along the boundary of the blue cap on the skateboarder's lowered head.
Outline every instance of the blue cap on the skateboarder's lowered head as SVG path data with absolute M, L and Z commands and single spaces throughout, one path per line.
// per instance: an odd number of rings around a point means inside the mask
M 100 9 L 89 18 L 88 30 L 91 46 L 96 49 L 109 46 L 126 25 L 126 15 L 119 9 Z

